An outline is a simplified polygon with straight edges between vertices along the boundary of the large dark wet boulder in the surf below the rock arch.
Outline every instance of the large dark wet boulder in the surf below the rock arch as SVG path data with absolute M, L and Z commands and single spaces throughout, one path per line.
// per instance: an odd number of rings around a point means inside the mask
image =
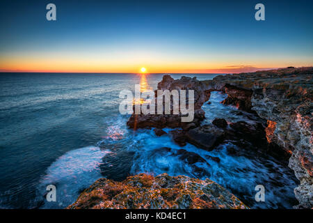
M 188 130 L 185 134 L 186 141 L 204 150 L 211 151 L 225 139 L 223 130 L 215 125 L 202 125 Z

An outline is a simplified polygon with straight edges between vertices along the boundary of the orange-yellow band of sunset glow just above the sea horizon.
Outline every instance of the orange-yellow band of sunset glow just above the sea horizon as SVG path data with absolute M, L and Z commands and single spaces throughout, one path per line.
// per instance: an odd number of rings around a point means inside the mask
M 255 72 L 257 70 L 269 70 L 286 68 L 287 66 L 301 67 L 312 66 L 310 63 L 252 63 L 252 66 L 230 66 L 238 64 L 237 61 L 220 63 L 204 61 L 154 61 L 146 62 L 149 73 L 235 73 Z M 82 58 L 67 58 L 55 56 L 53 58 L 42 56 L 0 56 L 0 72 L 90 72 L 90 73 L 146 73 L 146 67 L 142 67 L 142 61 L 103 61 L 101 59 L 85 60 Z M 139 69 L 138 69 L 139 68 Z M 144 71 L 143 71 L 144 70 Z

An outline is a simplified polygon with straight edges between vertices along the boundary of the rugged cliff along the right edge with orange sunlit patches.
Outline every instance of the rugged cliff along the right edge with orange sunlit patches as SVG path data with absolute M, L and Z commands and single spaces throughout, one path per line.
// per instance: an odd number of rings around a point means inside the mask
M 313 207 L 312 77 L 312 67 L 284 68 L 220 75 L 203 82 L 207 90 L 228 93 L 225 104 L 246 111 L 250 105 L 268 121 L 267 139 L 292 154 L 289 167 L 300 180 L 294 190 L 299 201 L 295 208 Z

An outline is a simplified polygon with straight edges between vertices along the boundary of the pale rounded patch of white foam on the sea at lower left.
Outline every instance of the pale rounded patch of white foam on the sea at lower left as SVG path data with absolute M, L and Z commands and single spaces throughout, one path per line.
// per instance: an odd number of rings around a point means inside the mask
M 41 208 L 65 208 L 77 199 L 79 192 L 101 178 L 99 165 L 110 151 L 87 146 L 69 151 L 52 163 L 47 175 L 40 180 L 39 193 L 45 194 L 47 185 L 56 185 L 56 202 L 45 201 Z

